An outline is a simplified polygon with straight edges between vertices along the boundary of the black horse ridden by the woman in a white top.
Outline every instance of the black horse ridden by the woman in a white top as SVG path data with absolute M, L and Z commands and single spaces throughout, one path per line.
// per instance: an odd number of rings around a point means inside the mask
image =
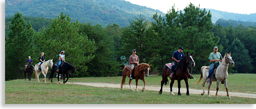
M 52 77 L 54 75 L 54 72 L 56 72 L 57 67 L 58 67 L 58 62 L 54 63 L 54 66 L 51 69 L 51 74 L 50 74 L 50 77 L 48 78 L 48 80 L 51 79 L 51 83 L 52 83 Z M 59 81 L 59 74 L 66 74 L 67 80 L 68 80 L 69 79 L 68 71 L 71 71 L 71 77 L 74 75 L 74 72 L 76 71 L 76 67 L 74 67 L 72 64 L 69 64 L 68 62 L 64 62 L 63 66 L 62 67 L 60 66 L 59 69 L 60 69 L 59 73 L 57 73 L 58 81 Z M 67 82 L 67 80 L 65 81 L 65 75 L 63 75 L 63 84 L 65 84 Z M 61 84 L 60 81 L 59 81 L 59 84 Z

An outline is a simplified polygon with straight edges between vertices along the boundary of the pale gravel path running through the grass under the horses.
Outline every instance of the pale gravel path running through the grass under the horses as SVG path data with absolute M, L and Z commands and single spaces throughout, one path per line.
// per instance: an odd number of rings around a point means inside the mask
M 120 88 L 121 84 L 110 84 L 110 83 L 92 83 L 92 82 L 67 82 L 67 84 L 80 84 L 80 85 L 87 85 L 87 86 L 93 86 L 93 87 L 110 87 L 110 88 Z M 129 85 L 123 86 L 123 88 L 127 88 L 129 89 Z M 136 85 L 132 84 L 132 88 L 133 90 L 136 89 Z M 143 86 L 138 86 L 138 90 L 141 91 L 141 89 L 143 88 Z M 146 85 L 146 89 L 145 90 L 152 90 L 152 91 L 159 91 L 160 90 L 160 86 L 159 87 L 151 87 L 151 86 L 147 86 Z M 173 92 L 175 95 L 177 95 L 178 93 L 178 88 L 172 88 Z M 181 93 L 186 93 L 187 89 L 180 89 Z M 170 87 L 163 87 L 163 92 L 170 92 Z M 197 90 L 197 89 L 189 89 L 189 94 L 201 94 L 202 93 L 202 89 L 201 90 Z M 210 90 L 210 95 L 212 97 L 215 97 L 215 93 L 216 90 Z M 246 93 L 237 93 L 237 92 L 228 92 L 229 96 L 233 96 L 233 97 L 247 97 L 247 98 L 256 98 L 256 94 L 246 94 Z M 207 87 L 205 90 L 205 95 L 207 95 Z M 226 92 L 221 92 L 218 91 L 218 95 L 219 96 L 226 96 L 227 93 Z

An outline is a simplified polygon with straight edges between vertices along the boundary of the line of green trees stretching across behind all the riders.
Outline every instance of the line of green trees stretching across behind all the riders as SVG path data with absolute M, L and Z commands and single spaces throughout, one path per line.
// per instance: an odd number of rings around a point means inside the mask
M 190 3 L 184 13 L 174 6 L 165 17 L 153 16 L 151 22 L 136 16 L 130 25 L 71 22 L 69 15 L 61 12 L 49 26 L 34 30 L 17 12 L 5 27 L 5 80 L 24 78 L 23 66 L 28 56 L 33 64 L 39 62 L 41 52 L 46 61 L 57 62 L 65 50 L 66 62 L 77 67 L 75 77 L 111 77 L 122 72 L 132 50 L 136 49 L 140 63 L 152 64 L 151 71 L 161 72 L 172 54 L 182 46 L 183 52 L 193 52 L 196 67 L 190 73 L 200 73 L 209 65 L 209 55 L 218 46 L 224 57 L 231 52 L 235 67 L 229 73 L 255 73 L 256 27 L 213 25 L 210 11 L 201 10 Z M 43 21 L 43 20 L 42 20 Z

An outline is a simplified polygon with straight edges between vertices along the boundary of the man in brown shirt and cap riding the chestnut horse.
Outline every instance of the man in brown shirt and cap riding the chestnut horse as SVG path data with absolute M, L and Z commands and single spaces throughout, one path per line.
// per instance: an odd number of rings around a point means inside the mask
M 133 73 L 133 69 L 135 67 L 135 65 L 137 66 L 138 65 L 138 56 L 136 55 L 136 50 L 133 49 L 133 55 L 130 56 L 129 58 L 129 63 L 131 64 L 131 71 L 130 71 L 130 79 L 133 79 L 132 78 L 132 73 Z

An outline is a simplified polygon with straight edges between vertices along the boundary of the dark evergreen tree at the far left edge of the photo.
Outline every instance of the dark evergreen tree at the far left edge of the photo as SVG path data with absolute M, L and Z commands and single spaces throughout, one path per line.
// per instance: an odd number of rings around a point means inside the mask
M 5 39 L 5 80 L 24 77 L 23 67 L 33 51 L 33 33 L 31 24 L 26 24 L 17 12 L 11 19 L 9 37 Z

